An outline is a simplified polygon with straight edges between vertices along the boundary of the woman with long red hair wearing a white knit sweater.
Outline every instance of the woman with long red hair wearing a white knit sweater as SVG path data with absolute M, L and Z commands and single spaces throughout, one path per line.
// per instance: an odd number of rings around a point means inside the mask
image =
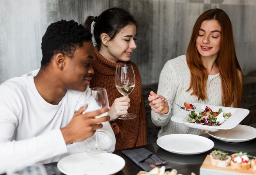
M 243 74 L 236 57 L 231 21 L 221 9 L 205 11 L 195 22 L 186 55 L 164 65 L 157 94 L 151 91 L 148 97 L 152 121 L 162 126 L 158 137 L 202 134 L 198 129 L 171 121 L 180 108 L 158 97 L 181 106 L 189 102 L 239 107 L 242 93 Z

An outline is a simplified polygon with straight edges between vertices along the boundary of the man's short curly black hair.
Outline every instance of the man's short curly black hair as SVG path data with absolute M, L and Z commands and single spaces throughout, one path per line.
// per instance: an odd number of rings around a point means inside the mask
M 49 65 L 54 54 L 62 53 L 73 57 L 77 48 L 83 46 L 83 42 L 92 40 L 92 34 L 74 20 L 61 20 L 54 22 L 47 28 L 42 38 L 42 67 Z

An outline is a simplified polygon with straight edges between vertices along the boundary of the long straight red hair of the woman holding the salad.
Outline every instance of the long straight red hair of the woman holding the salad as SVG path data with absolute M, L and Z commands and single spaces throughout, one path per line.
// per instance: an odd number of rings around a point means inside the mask
M 196 47 L 196 39 L 204 20 L 217 20 L 221 27 L 220 52 L 216 65 L 220 70 L 222 103 L 224 106 L 238 107 L 243 94 L 243 73 L 236 57 L 232 25 L 227 13 L 221 9 L 210 9 L 202 13 L 195 22 L 186 52 L 186 61 L 191 72 L 189 90 L 198 100 L 207 99 L 206 83 L 208 73 Z

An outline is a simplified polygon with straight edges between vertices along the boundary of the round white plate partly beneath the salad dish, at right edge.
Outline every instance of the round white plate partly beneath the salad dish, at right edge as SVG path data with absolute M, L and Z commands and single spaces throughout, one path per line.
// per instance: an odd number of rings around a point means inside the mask
M 256 138 L 256 128 L 246 125 L 238 125 L 230 130 L 219 130 L 217 132 L 209 132 L 208 134 L 221 141 L 239 143 Z

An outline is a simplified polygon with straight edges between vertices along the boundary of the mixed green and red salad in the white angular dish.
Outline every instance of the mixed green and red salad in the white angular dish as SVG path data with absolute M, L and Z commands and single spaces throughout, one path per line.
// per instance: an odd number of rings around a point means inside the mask
M 209 107 L 205 107 L 200 111 L 192 110 L 189 114 L 189 123 L 198 123 L 208 126 L 220 126 L 224 123 L 229 117 L 231 117 L 231 112 L 223 112 L 222 108 L 219 108 L 218 111 L 213 111 Z

